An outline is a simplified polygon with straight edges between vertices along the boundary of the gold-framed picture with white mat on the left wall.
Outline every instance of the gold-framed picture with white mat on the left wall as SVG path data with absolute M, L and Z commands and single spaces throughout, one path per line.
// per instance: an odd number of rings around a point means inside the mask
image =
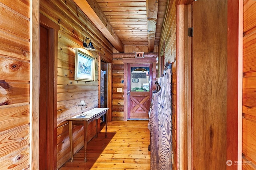
M 95 58 L 76 48 L 75 80 L 95 81 Z

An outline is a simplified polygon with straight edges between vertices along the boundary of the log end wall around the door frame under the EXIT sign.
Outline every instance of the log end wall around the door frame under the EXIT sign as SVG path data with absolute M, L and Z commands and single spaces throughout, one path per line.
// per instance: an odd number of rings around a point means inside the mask
M 137 51 L 136 51 L 137 52 Z M 143 52 L 143 51 L 140 51 Z M 145 53 L 144 57 L 157 57 L 157 53 Z M 113 120 L 124 120 L 124 62 L 122 58 L 135 58 L 135 53 L 113 53 L 112 63 L 112 114 Z M 156 78 L 158 72 L 156 72 Z M 122 88 L 122 92 L 117 92 Z

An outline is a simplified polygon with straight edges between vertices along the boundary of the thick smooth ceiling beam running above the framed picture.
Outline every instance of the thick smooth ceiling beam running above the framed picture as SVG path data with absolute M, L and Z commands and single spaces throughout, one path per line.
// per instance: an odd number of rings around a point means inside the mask
M 98 27 L 102 34 L 110 41 L 113 47 L 124 52 L 124 45 L 118 35 L 115 33 L 112 25 L 104 15 L 96 0 L 74 0 L 88 18 Z

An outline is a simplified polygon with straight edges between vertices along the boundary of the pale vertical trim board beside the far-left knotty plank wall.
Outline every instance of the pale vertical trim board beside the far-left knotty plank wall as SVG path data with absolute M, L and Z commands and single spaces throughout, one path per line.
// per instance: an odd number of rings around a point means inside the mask
M 39 1 L 30 1 L 30 168 L 39 169 Z

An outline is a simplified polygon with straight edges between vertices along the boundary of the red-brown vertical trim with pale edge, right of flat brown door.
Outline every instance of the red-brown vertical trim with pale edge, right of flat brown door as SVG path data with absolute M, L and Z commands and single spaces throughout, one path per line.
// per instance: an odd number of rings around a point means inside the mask
M 228 1 L 226 160 L 242 161 L 243 1 Z M 242 169 L 242 164 L 226 166 Z

